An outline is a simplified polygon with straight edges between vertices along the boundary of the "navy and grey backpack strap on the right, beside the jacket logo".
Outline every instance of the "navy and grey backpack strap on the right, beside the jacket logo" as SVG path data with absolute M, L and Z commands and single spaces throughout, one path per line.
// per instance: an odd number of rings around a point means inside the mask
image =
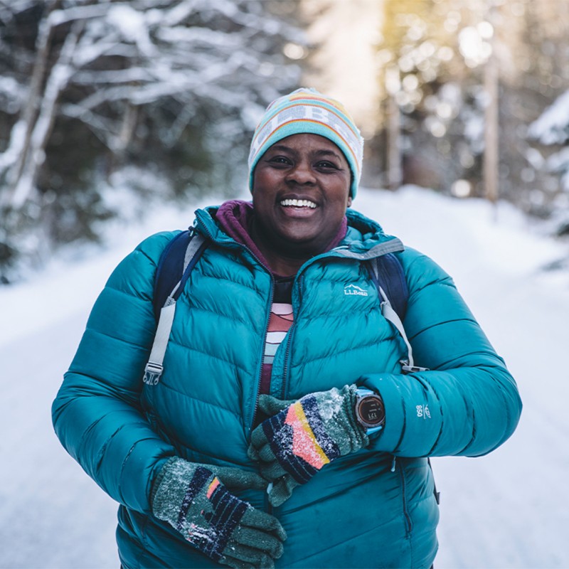
M 393 253 L 388 253 L 369 260 L 367 267 L 381 297 L 381 314 L 395 326 L 403 338 L 405 346 L 407 346 L 407 359 L 400 361 L 403 373 L 427 371 L 427 368 L 415 366 L 413 348 L 403 326 L 403 319 L 405 312 L 407 312 L 409 288 L 400 261 Z

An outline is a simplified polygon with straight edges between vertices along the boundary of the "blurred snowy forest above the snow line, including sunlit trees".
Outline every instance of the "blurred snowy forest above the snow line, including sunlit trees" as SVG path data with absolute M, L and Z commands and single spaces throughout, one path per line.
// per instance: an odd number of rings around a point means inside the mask
M 0 280 L 107 220 L 240 193 L 262 110 L 300 85 L 361 125 L 363 185 L 567 234 L 568 32 L 565 0 L 0 1 Z

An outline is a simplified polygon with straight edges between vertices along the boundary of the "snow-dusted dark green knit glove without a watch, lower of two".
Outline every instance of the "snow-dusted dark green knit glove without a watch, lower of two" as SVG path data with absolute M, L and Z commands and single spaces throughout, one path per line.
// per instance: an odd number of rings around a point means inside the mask
M 267 486 L 254 472 L 172 457 L 152 486 L 154 516 L 218 563 L 237 569 L 274 568 L 287 538 L 285 530 L 274 516 L 231 494 L 220 478 L 234 488 Z

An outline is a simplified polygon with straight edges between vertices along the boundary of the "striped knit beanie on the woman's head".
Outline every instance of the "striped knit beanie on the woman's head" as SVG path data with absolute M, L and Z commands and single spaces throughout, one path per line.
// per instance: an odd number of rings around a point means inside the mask
M 292 134 L 319 134 L 344 153 L 350 166 L 350 196 L 356 197 L 361 178 L 363 138 L 350 115 L 338 101 L 315 89 L 301 88 L 274 100 L 255 129 L 249 152 L 249 188 L 261 156 L 275 142 Z

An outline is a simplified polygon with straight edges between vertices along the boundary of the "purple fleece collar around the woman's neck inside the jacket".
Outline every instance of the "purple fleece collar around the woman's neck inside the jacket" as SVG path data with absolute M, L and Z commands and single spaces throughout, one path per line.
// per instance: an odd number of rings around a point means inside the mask
M 230 238 L 248 247 L 265 267 L 270 268 L 269 263 L 251 238 L 251 223 L 254 215 L 255 212 L 252 203 L 249 201 L 230 200 L 225 201 L 219 206 L 216 213 L 216 220 L 220 228 L 227 233 Z M 323 252 L 334 249 L 334 247 L 339 245 L 341 240 L 346 237 L 347 230 L 348 219 L 344 216 L 339 232 Z M 275 275 L 275 277 L 277 276 L 279 275 Z

